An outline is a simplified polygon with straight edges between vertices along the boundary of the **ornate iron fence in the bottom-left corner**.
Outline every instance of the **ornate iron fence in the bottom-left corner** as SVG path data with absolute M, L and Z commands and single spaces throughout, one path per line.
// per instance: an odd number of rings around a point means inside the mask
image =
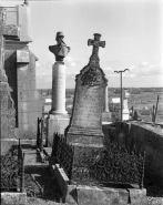
M 20 140 L 1 156 L 1 192 L 24 192 L 24 153 Z

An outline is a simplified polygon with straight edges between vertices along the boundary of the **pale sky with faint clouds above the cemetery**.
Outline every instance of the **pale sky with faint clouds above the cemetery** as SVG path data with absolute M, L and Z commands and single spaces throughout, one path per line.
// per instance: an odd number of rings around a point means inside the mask
M 4 2 L 4 1 L 2 1 Z M 16 6 L 23 1 L 6 1 Z M 75 75 L 88 63 L 92 47 L 88 40 L 101 34 L 105 48 L 99 49 L 100 66 L 110 88 L 163 86 L 162 68 L 162 2 L 161 0 L 29 0 L 31 9 L 32 43 L 30 50 L 38 57 L 37 88 L 52 88 L 54 55 L 49 45 L 57 44 L 55 33 L 64 33 L 71 48 L 65 57 L 67 89 L 75 85 Z

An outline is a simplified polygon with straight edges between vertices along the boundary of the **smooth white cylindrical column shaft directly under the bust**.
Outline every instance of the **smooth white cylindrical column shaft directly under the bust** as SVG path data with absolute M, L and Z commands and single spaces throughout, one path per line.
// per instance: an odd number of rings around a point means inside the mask
M 52 66 L 52 109 L 50 114 L 68 114 L 65 111 L 65 64 L 58 61 Z

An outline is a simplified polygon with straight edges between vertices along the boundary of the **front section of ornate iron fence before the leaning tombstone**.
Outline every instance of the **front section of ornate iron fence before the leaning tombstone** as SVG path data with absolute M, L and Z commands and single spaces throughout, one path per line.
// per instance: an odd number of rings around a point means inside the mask
M 84 156 L 80 156 L 72 168 L 74 182 L 84 185 L 133 184 L 143 187 L 145 153 L 137 155 L 134 151 L 130 152 L 108 141 L 99 154 L 92 151 L 89 155 L 81 155 Z

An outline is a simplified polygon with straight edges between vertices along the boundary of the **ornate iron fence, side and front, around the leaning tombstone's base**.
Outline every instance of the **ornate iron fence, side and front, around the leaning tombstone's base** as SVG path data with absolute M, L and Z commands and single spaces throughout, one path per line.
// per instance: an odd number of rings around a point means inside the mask
M 129 151 L 108 139 L 104 147 L 80 150 L 58 133 L 53 136 L 52 157 L 60 163 L 71 182 L 83 185 L 136 185 L 143 187 L 145 153 Z

